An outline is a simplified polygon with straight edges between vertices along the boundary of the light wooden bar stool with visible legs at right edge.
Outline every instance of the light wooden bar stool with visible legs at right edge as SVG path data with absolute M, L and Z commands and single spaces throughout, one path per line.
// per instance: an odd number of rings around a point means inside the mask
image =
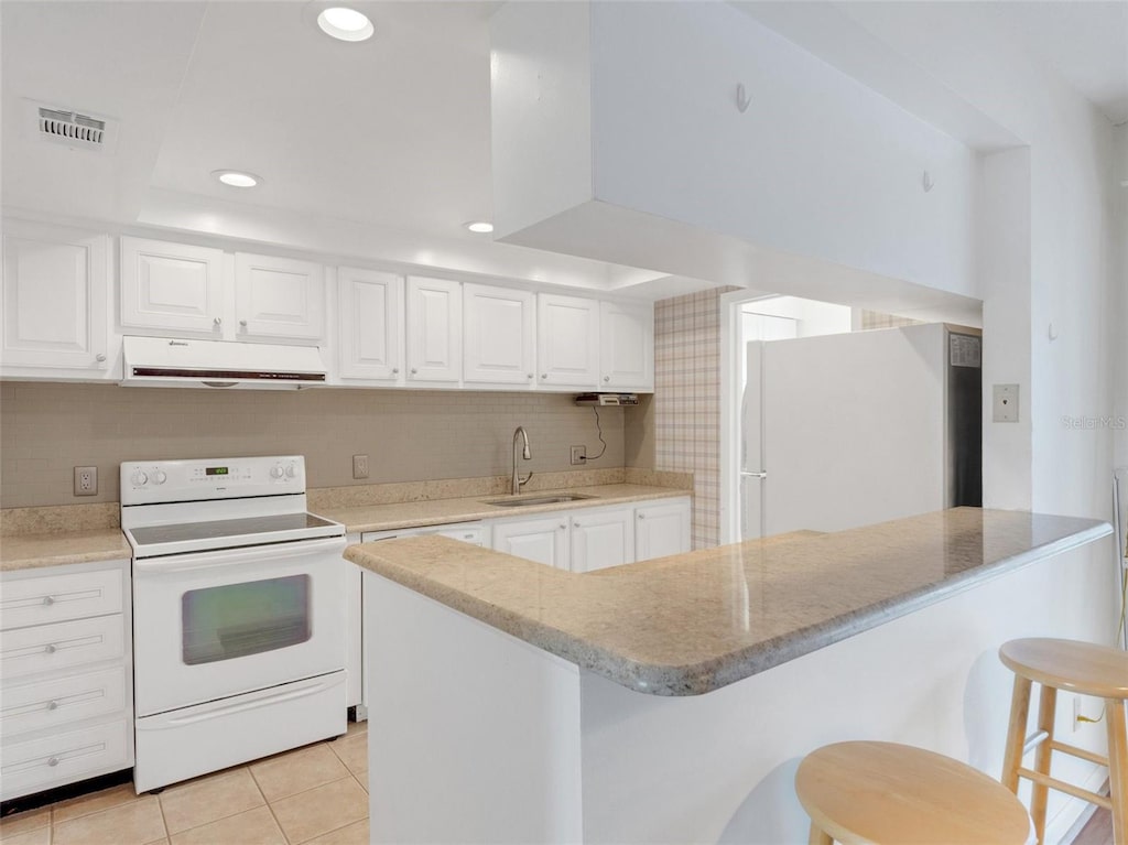
M 1003 762 L 1003 784 L 1017 793 L 1019 778 L 1033 782 L 1030 815 L 1038 842 L 1046 836 L 1046 800 L 1049 790 L 1065 792 L 1112 811 L 1112 839 L 1128 845 L 1128 728 L 1125 727 L 1125 699 L 1128 699 L 1128 652 L 1107 645 L 1073 640 L 1012 640 L 998 650 L 999 659 L 1014 672 L 1011 699 L 1011 727 Z M 1038 702 L 1038 730 L 1026 738 L 1030 686 L 1041 685 Z M 1059 742 L 1054 737 L 1057 690 L 1092 695 L 1104 699 L 1104 721 L 1109 731 L 1109 756 Z M 1024 768 L 1022 756 L 1032 748 L 1033 769 Z M 1074 786 L 1050 776 L 1054 751 L 1079 757 L 1109 767 L 1109 798 Z

